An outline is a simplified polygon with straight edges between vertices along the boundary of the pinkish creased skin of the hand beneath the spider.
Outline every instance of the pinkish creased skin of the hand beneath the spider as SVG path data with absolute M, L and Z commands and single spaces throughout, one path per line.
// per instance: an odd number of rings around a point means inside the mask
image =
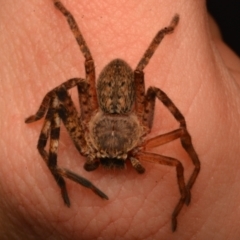
M 2 1 L 0 8 L 0 234 L 1 239 L 239 239 L 240 60 L 222 42 L 204 1 L 64 0 L 92 52 L 96 72 L 112 59 L 134 68 L 159 29 L 180 14 L 145 69 L 146 85 L 161 88 L 186 117 L 201 171 L 192 200 L 171 232 L 179 199 L 175 169 L 143 162 L 138 175 L 84 171 L 62 127 L 59 165 L 86 177 L 108 195 L 102 200 L 67 180 L 71 208 L 37 152 L 40 120 L 25 124 L 44 95 L 72 77 L 84 60 L 65 18 L 50 0 Z M 89 2 L 89 1 L 88 1 Z M 74 90 L 70 91 L 74 99 Z M 150 136 L 176 129 L 157 104 Z M 153 150 L 193 169 L 179 141 Z

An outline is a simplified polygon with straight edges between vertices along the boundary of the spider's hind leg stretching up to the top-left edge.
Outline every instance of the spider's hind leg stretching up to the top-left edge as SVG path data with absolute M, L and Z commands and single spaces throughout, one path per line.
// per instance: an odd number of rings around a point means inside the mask
M 53 0 L 53 2 L 56 8 L 66 17 L 68 25 L 85 58 L 86 81 L 89 83 L 89 89 L 88 89 L 88 92 L 86 92 L 86 91 L 81 91 L 82 89 L 78 88 L 78 91 L 79 91 L 79 104 L 81 108 L 82 108 L 82 105 L 85 103 L 88 103 L 88 106 L 89 106 L 88 110 L 82 111 L 81 118 L 83 121 L 85 120 L 86 122 L 89 122 L 89 120 L 91 119 L 92 113 L 98 109 L 94 61 L 93 61 L 91 52 L 83 38 L 83 35 L 73 15 L 64 7 L 64 5 L 59 0 Z

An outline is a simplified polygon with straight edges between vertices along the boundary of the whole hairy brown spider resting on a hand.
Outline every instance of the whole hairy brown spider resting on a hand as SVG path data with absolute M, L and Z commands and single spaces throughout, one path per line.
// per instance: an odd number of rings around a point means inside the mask
M 190 203 L 190 189 L 200 171 L 200 161 L 184 116 L 161 89 L 149 87 L 145 91 L 143 70 L 164 36 L 174 31 L 179 22 L 179 15 L 176 14 L 169 26 L 156 34 L 135 70 L 124 60 L 115 59 L 102 70 L 95 85 L 94 61 L 74 17 L 59 0 L 53 2 L 66 17 L 84 55 L 86 78 L 69 79 L 49 91 L 37 113 L 28 117 L 25 122 L 31 123 L 46 115 L 37 148 L 61 189 L 64 203 L 70 207 L 64 178 L 90 188 L 103 199 L 108 197 L 87 179 L 58 167 L 57 150 L 61 121 L 79 153 L 86 157 L 84 168 L 87 171 L 93 171 L 99 165 L 109 169 L 122 169 L 126 162 L 130 161 L 136 171 L 142 174 L 145 171 L 142 160 L 175 167 L 181 195 L 172 213 L 172 231 L 175 231 L 179 212 L 184 204 Z M 80 114 L 68 93 L 73 87 L 77 87 L 78 90 Z M 180 126 L 169 133 L 146 139 L 153 124 L 156 98 L 166 106 Z M 184 168 L 179 160 L 148 151 L 178 138 L 194 164 L 187 184 L 184 181 Z M 49 152 L 45 150 L 48 139 Z

